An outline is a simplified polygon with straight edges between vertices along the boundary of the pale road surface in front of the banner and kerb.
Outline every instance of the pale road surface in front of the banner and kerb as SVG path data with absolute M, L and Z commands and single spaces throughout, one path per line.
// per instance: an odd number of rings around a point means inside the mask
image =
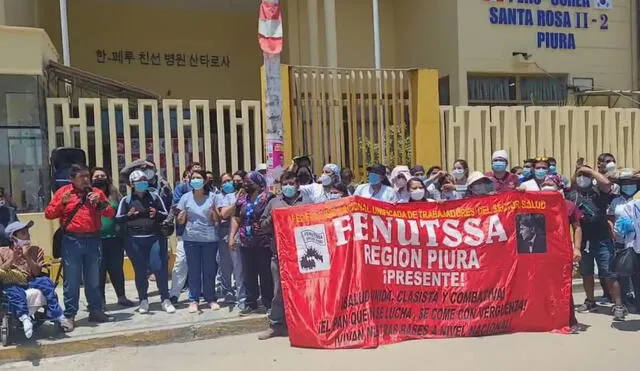
M 576 302 L 584 297 L 576 295 Z M 160 314 L 158 314 L 160 315 Z M 578 315 L 588 328 L 578 335 L 511 334 L 423 340 L 375 350 L 297 349 L 287 339 L 259 342 L 255 334 L 192 343 L 113 348 L 71 357 L 7 364 L 0 370 L 637 370 L 640 316 L 612 325 L 608 310 Z

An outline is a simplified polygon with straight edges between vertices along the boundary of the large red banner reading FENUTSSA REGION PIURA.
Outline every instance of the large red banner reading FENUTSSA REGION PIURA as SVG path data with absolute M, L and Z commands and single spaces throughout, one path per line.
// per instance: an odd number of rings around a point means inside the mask
M 291 344 L 568 326 L 572 252 L 558 193 L 392 205 L 356 197 L 274 212 Z

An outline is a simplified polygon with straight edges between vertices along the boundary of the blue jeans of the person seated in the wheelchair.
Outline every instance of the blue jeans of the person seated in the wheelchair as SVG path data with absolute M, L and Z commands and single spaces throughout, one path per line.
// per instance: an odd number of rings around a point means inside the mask
M 62 317 L 62 308 L 58 302 L 56 295 L 56 286 L 49 277 L 36 277 L 29 281 L 30 289 L 40 290 L 42 295 L 47 298 L 47 318 L 57 320 Z M 4 289 L 4 294 L 9 300 L 9 310 L 20 318 L 23 315 L 29 315 L 29 307 L 27 306 L 27 293 L 23 287 L 9 286 Z

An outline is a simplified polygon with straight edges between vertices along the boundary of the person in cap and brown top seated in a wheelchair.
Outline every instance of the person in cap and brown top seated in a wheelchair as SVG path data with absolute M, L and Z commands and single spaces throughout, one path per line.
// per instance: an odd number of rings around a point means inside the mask
M 0 270 L 11 272 L 17 281 L 20 280 L 20 275 L 26 278 L 26 286 L 15 282 L 0 284 L 9 301 L 9 310 L 22 322 L 27 339 L 33 335 L 33 323 L 27 306 L 27 288 L 40 290 L 47 298 L 47 315 L 50 320 L 58 322 L 65 332 L 73 330 L 73 325 L 62 313 L 53 281 L 49 277 L 40 276 L 44 267 L 44 252 L 38 246 L 31 245 L 29 228 L 32 226 L 33 222 L 9 224 L 4 230 L 10 241 L 9 246 L 0 247 Z

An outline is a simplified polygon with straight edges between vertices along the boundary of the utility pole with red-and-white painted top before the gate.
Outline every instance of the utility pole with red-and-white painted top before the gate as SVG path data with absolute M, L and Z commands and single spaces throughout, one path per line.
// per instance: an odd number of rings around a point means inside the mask
M 267 183 L 273 185 L 285 168 L 282 128 L 280 52 L 283 45 L 282 13 L 278 0 L 260 3 L 258 41 L 264 57 L 266 75 L 266 156 Z

